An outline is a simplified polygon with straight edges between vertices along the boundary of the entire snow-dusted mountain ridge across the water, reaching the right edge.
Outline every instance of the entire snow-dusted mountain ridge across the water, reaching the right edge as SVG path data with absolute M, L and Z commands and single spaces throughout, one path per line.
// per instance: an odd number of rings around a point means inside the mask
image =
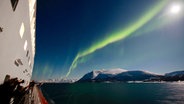
M 145 70 L 93 70 L 85 74 L 77 82 L 104 82 L 104 81 L 178 81 L 184 80 L 184 71 L 174 71 L 164 75 Z

